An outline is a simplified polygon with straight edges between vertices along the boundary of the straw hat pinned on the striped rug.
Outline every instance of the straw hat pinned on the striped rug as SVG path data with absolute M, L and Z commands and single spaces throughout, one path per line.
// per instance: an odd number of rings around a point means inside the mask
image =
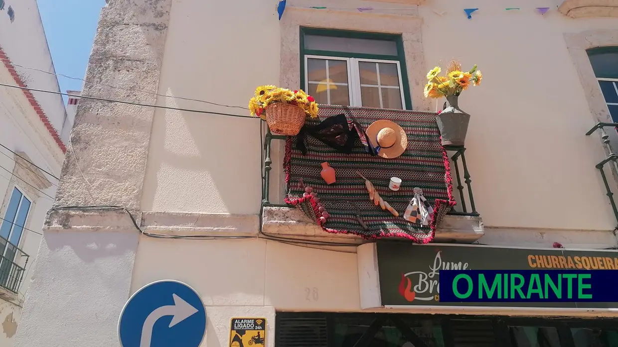
M 381 119 L 371 123 L 365 131 L 371 144 L 378 148 L 378 156 L 386 159 L 399 157 L 408 146 L 404 128 L 391 120 Z

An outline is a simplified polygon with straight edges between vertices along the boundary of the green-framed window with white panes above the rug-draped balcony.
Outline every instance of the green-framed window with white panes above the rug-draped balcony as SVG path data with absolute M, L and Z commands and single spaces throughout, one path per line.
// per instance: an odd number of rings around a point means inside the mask
M 301 27 L 300 82 L 319 104 L 412 109 L 401 35 Z

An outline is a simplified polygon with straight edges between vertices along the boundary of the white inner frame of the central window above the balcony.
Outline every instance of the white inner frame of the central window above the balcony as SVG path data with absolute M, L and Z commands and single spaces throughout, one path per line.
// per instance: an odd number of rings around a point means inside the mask
M 360 83 L 360 70 L 358 69 L 359 62 L 374 62 L 374 63 L 386 63 L 386 64 L 396 64 L 397 65 L 397 77 L 399 77 L 399 93 L 401 95 L 401 107 L 402 109 L 406 109 L 405 98 L 404 98 L 404 82 L 401 76 L 401 65 L 399 61 L 389 61 L 383 59 L 364 59 L 364 58 L 349 58 L 349 57 L 331 57 L 331 56 L 314 56 L 314 55 L 305 55 L 305 91 L 309 90 L 309 72 L 308 72 L 308 59 L 323 59 L 326 60 L 326 80 L 329 79 L 328 76 L 328 61 L 345 61 L 347 63 L 348 69 L 348 92 L 349 92 L 349 100 L 350 106 L 363 106 L 362 97 L 360 94 L 360 88 L 362 86 L 370 86 L 376 88 L 376 85 L 362 85 Z M 382 94 L 381 88 L 389 88 L 389 89 L 397 89 L 395 86 L 382 86 L 379 84 L 379 65 L 376 66 L 376 72 L 378 73 L 378 90 L 380 92 L 380 108 L 383 108 L 382 104 Z M 311 83 L 313 84 L 313 83 Z M 345 85 L 344 83 L 328 83 L 332 85 Z M 331 96 L 327 94 L 327 102 L 331 103 Z

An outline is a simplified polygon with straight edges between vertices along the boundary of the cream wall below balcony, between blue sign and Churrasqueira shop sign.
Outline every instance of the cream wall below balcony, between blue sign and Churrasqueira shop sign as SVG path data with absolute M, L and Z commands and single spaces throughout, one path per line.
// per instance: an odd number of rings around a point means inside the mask
M 232 316 L 224 314 L 219 320 L 211 315 L 221 307 L 237 307 L 240 316 L 251 313 L 247 306 L 271 307 L 273 312 L 274 308 L 360 309 L 355 253 L 270 240 L 162 240 L 141 236 L 131 293 L 163 279 L 185 282 L 200 294 L 210 315 L 208 331 L 211 325 L 223 325 L 227 330 L 227 335 L 223 334 L 224 339 L 218 342 L 222 346 L 229 343 Z M 208 346 L 216 345 L 208 342 Z

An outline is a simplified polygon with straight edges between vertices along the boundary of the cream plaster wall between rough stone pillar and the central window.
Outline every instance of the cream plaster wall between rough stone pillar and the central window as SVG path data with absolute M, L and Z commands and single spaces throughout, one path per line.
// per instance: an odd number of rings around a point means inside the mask
M 247 107 L 256 86 L 279 80 L 276 4 L 174 0 L 158 93 Z M 158 104 L 248 115 L 184 99 Z M 256 214 L 259 133 L 255 119 L 157 110 L 142 209 Z

